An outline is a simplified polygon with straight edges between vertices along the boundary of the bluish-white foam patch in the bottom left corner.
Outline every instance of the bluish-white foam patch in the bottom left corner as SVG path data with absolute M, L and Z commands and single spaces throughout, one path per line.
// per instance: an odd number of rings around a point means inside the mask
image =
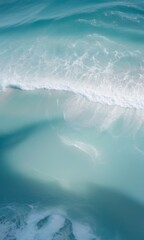
M 10 215 L 5 208 L 0 218 L 2 240 L 99 240 L 88 224 L 71 220 L 59 209 L 43 211 L 31 208 L 27 212 L 15 208 Z

